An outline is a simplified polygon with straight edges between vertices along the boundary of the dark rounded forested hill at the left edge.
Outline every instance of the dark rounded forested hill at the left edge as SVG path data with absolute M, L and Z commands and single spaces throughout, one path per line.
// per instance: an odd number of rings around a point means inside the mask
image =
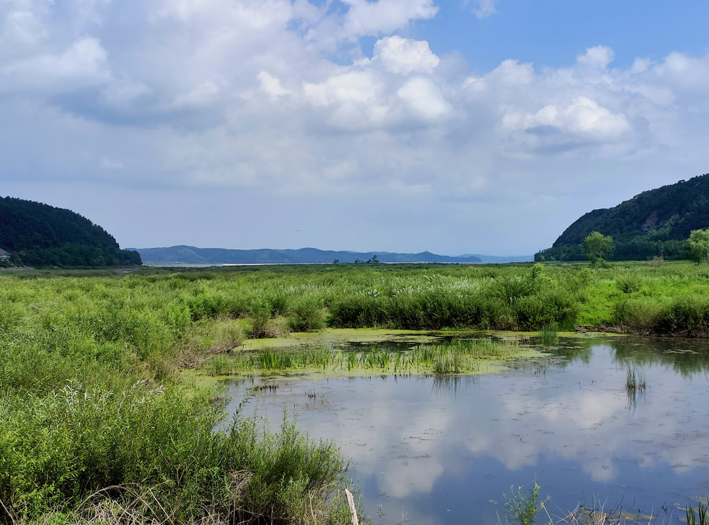
M 10 263 L 28 266 L 140 265 L 140 254 L 121 250 L 113 236 L 68 209 L 0 197 L 0 248 Z M 7 261 L 4 261 L 8 264 Z

